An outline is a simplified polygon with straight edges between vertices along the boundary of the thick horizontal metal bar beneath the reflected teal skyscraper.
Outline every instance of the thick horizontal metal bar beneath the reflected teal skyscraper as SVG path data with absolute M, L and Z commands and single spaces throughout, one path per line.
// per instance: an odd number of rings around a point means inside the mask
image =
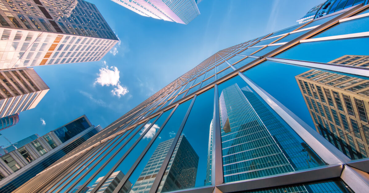
M 337 178 L 341 176 L 342 168 L 342 164 L 325 165 L 317 168 L 266 176 L 263 178 L 228 182 L 216 187 L 222 192 L 228 193 L 306 183 L 317 180 Z

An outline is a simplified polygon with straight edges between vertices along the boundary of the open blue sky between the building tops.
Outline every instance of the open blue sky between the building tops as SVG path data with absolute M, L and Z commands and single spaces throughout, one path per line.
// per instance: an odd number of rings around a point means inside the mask
M 36 66 L 50 87 L 37 107 L 1 131 L 15 143 L 86 114 L 106 127 L 215 52 L 296 25 L 323 0 L 203 0 L 183 25 L 144 17 L 113 1 L 94 3 L 120 42 L 101 61 Z M 10 143 L 0 137 L 0 145 Z

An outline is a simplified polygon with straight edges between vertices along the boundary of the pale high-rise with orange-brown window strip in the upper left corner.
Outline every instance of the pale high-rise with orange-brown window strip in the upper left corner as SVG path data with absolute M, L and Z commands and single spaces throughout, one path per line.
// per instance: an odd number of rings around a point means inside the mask
M 118 42 L 83 0 L 0 1 L 0 69 L 99 61 Z

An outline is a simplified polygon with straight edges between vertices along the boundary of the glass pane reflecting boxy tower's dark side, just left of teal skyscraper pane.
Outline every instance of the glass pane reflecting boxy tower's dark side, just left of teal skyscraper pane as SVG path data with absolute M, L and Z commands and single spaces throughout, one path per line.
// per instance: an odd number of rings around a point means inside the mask
M 211 185 L 214 89 L 196 97 L 158 192 Z

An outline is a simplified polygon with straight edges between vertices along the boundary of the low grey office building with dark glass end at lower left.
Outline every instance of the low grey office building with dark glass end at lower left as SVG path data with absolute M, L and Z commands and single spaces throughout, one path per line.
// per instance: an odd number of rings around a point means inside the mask
M 73 135 L 67 140 L 59 137 L 56 131 L 60 128 L 66 128 Z M 41 137 L 31 135 L 5 148 L 7 154 L 0 157 L 0 176 L 3 176 L 0 192 L 11 192 L 97 134 L 85 115 L 60 128 Z

